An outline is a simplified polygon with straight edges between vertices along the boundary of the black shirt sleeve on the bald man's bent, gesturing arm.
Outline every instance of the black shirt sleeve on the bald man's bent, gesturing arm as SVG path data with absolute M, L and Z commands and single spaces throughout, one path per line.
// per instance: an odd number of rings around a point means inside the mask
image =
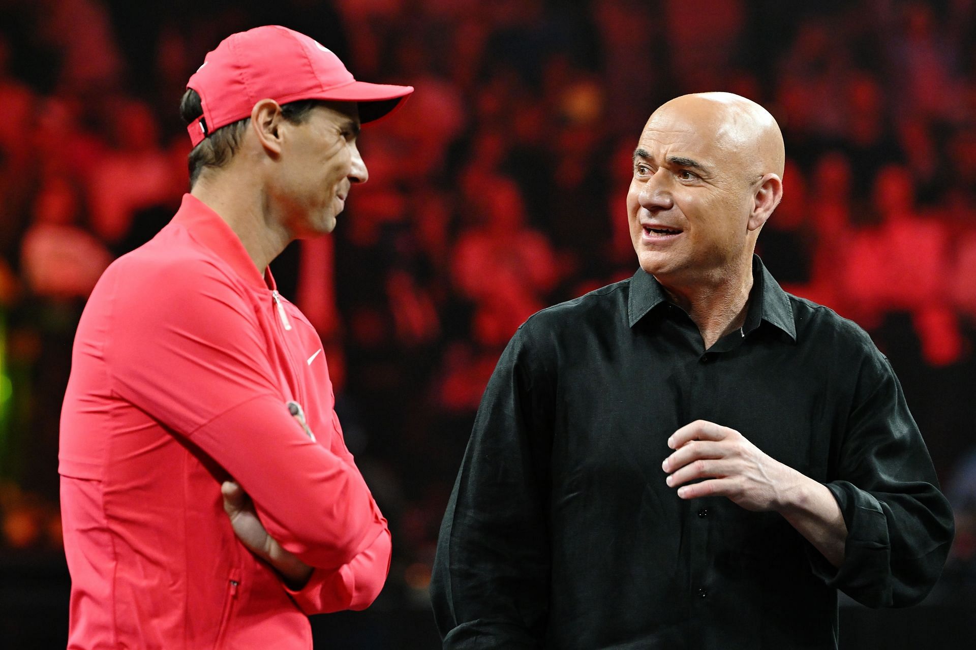
M 870 345 L 870 344 L 869 344 Z M 886 358 L 862 364 L 836 453 L 834 494 L 847 525 L 838 569 L 814 558 L 827 583 L 870 607 L 919 602 L 942 572 L 953 513 Z

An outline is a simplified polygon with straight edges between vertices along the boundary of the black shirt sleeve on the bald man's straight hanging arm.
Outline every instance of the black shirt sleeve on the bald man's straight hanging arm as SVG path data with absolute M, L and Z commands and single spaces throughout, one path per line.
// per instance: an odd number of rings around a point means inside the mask
M 549 605 L 551 408 L 523 326 L 485 389 L 430 586 L 444 648 L 539 648 Z

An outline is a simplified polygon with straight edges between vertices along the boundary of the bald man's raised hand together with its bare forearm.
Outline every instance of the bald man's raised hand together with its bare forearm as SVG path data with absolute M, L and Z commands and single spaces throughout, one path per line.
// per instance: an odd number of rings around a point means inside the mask
M 674 431 L 668 446 L 674 453 L 661 467 L 681 499 L 722 496 L 748 510 L 775 510 L 831 564 L 843 562 L 847 525 L 827 486 L 767 456 L 734 428 L 704 420 Z M 696 478 L 706 480 L 683 485 Z

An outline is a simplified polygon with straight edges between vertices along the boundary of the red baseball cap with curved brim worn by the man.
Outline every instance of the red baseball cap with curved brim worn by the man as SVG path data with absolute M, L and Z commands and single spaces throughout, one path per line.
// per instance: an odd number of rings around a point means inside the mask
M 356 81 L 343 61 L 318 41 L 294 29 L 264 25 L 231 34 L 207 53 L 186 82 L 199 94 L 203 115 L 186 131 L 196 146 L 227 124 L 251 116 L 264 99 L 359 102 L 359 120 L 372 122 L 414 92 L 413 86 Z

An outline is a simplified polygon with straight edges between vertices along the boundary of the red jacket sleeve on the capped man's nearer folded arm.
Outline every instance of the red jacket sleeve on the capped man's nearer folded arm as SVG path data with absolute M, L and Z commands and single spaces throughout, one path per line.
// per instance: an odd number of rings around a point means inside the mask
M 223 467 L 283 548 L 314 567 L 349 563 L 386 527 L 358 469 L 289 415 L 241 291 L 208 264 L 163 271 L 150 303 L 118 284 L 115 304 L 140 306 L 112 314 L 112 390 Z

